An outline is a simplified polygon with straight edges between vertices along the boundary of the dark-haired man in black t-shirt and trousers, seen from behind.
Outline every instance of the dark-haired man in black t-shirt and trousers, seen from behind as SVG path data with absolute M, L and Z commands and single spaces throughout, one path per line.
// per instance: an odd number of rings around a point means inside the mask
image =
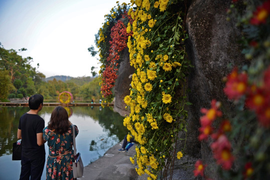
M 45 141 L 42 130 L 44 119 L 37 113 L 43 107 L 43 96 L 32 95 L 28 105 L 30 110 L 19 118 L 17 138 L 21 139 L 21 170 L 19 179 L 40 179 L 45 163 Z

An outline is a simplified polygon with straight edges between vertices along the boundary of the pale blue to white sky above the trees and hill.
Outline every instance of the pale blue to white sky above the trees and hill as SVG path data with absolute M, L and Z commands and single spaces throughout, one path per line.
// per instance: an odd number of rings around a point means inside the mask
M 91 66 L 98 73 L 100 64 L 87 48 L 96 48 L 94 34 L 115 5 L 116 0 L 0 0 L 0 42 L 5 49 L 26 48 L 18 54 L 32 57 L 31 66 L 46 77 L 91 76 Z

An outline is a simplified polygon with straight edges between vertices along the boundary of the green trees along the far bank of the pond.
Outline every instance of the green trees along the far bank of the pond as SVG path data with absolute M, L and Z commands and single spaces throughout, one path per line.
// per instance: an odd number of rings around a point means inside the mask
M 22 57 L 18 53 L 27 50 L 21 48 L 5 49 L 0 43 L 0 101 L 10 98 L 29 97 L 40 93 L 44 99 L 57 99 L 62 91 L 69 91 L 74 99 L 100 99 L 98 77 L 76 77 L 70 80 L 45 81 L 45 75 L 32 67 L 31 57 Z

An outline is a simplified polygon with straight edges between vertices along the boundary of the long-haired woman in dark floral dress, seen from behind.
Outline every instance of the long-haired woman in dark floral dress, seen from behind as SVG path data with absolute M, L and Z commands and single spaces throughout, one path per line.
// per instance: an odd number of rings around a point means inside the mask
M 78 128 L 75 126 L 75 136 Z M 49 154 L 46 164 L 46 179 L 70 180 L 73 178 L 72 161 L 73 132 L 66 110 L 57 106 L 53 109 L 48 126 L 43 129 L 43 139 L 47 141 Z

